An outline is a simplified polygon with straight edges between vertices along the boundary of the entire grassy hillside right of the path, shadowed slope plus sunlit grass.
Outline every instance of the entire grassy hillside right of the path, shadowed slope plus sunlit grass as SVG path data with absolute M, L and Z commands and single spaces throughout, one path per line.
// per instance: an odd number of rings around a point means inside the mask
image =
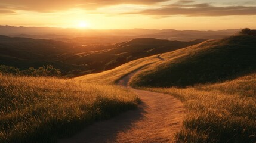
M 236 35 L 162 54 L 131 84 L 184 102 L 178 142 L 255 142 L 255 45 L 255 36 Z

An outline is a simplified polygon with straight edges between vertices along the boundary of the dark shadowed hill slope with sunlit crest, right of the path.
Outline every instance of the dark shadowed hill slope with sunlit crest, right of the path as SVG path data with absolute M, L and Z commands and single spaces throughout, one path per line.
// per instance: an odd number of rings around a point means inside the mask
M 193 86 L 218 82 L 256 70 L 256 37 L 236 35 L 206 41 L 169 54 L 166 61 L 137 77 L 137 86 Z

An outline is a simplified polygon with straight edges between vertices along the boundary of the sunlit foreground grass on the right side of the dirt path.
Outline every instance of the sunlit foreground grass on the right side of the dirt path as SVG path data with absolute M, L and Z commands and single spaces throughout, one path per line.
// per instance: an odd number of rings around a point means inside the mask
M 146 88 L 184 102 L 178 142 L 256 142 L 256 74 L 194 88 Z

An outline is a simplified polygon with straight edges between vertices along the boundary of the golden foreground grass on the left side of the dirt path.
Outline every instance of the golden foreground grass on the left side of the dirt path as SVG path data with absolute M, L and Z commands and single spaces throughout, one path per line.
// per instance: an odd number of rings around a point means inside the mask
M 0 142 L 56 142 L 137 102 L 115 85 L 0 75 Z

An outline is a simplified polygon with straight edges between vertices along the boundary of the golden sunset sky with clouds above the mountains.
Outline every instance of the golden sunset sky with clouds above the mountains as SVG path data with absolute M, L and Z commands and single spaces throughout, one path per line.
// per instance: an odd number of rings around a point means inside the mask
M 256 29 L 256 1 L 1 0 L 0 25 L 90 29 Z

